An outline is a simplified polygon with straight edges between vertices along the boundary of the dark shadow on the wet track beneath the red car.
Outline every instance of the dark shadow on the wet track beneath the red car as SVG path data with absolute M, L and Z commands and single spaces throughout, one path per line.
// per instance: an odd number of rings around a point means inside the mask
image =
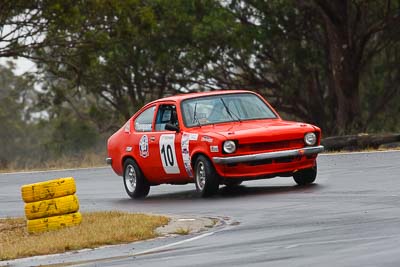
M 204 201 L 208 199 L 212 199 L 213 201 L 218 199 L 229 199 L 229 198 L 243 198 L 243 197 L 252 197 L 258 195 L 281 195 L 281 194 L 289 194 L 289 193 L 313 193 L 322 188 L 321 185 L 311 184 L 307 186 L 247 186 L 240 185 L 236 187 L 226 187 L 221 186 L 218 193 L 210 198 L 201 198 L 196 190 L 186 190 L 174 193 L 165 193 L 165 194 L 150 194 L 145 199 L 134 200 L 140 202 L 153 202 L 153 201 L 161 201 L 161 200 L 192 200 L 192 201 Z M 130 199 L 121 200 L 123 202 L 131 201 Z

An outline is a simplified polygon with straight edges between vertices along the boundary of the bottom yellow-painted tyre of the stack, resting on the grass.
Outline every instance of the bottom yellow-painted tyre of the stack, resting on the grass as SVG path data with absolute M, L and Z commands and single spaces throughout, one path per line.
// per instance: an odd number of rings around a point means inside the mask
M 65 226 L 74 226 L 80 224 L 82 215 L 79 212 L 47 217 L 36 220 L 28 220 L 27 227 L 29 233 L 40 233 L 50 230 L 58 230 Z

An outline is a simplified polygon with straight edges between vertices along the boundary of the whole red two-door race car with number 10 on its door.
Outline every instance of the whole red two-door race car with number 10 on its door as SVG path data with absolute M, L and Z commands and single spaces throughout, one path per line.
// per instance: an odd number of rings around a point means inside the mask
M 260 95 L 213 91 L 148 103 L 107 142 L 107 163 L 131 198 L 150 186 L 194 182 L 201 196 L 221 184 L 293 176 L 313 183 L 321 130 L 282 120 Z

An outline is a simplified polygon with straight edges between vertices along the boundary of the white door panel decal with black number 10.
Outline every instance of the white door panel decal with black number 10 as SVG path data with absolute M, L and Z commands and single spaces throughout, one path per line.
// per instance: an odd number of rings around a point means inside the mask
M 180 173 L 175 153 L 175 134 L 160 136 L 160 156 L 165 173 Z

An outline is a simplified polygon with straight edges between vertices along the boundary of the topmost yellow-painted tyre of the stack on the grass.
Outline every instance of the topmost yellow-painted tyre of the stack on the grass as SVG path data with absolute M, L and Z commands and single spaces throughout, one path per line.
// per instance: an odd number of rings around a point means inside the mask
M 74 178 L 59 178 L 21 187 L 25 203 L 73 195 L 76 192 Z

